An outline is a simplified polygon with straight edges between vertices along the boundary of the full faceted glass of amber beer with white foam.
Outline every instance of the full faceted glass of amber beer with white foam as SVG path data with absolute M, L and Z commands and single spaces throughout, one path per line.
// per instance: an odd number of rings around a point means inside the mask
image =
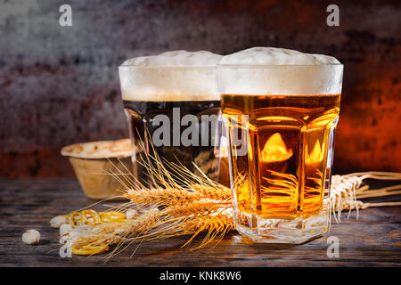
M 302 243 L 328 228 L 343 66 L 282 56 L 218 67 L 233 219 L 256 242 Z

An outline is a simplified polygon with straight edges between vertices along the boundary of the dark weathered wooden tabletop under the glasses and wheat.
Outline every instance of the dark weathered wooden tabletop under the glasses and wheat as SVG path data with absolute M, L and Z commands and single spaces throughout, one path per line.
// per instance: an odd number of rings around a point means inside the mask
M 399 266 L 401 265 L 401 208 L 367 208 L 359 220 L 343 213 L 331 232 L 302 245 L 246 244 L 233 232 L 216 248 L 180 248 L 185 237 L 141 245 L 114 256 L 59 255 L 58 230 L 49 220 L 86 207 L 87 199 L 74 179 L 0 179 L 0 266 Z M 397 198 L 380 199 L 381 201 Z M 377 201 L 374 200 L 374 201 Z M 110 203 L 104 203 L 110 205 Z M 100 205 L 97 209 L 106 209 Z M 41 232 L 36 246 L 21 241 L 28 229 Z M 340 257 L 328 257 L 327 238 L 340 240 Z

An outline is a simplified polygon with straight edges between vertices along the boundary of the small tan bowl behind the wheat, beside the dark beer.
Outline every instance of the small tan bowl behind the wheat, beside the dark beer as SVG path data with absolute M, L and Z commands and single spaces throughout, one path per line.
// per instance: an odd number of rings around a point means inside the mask
M 129 139 L 70 144 L 61 149 L 61 155 L 70 159 L 83 191 L 92 199 L 121 195 L 124 187 L 110 173 L 132 174 Z M 119 175 L 119 178 L 127 181 L 127 175 Z

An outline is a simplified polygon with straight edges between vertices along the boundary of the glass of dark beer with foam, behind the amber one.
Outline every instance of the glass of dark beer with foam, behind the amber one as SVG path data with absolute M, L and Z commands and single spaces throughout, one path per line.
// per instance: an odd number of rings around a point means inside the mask
M 135 180 L 154 183 L 143 167 L 147 153 L 160 158 L 177 183 L 182 175 L 171 163 L 201 175 L 195 163 L 218 181 L 216 135 L 221 109 L 216 69 L 220 58 L 209 52 L 175 51 L 134 58 L 119 66 Z

